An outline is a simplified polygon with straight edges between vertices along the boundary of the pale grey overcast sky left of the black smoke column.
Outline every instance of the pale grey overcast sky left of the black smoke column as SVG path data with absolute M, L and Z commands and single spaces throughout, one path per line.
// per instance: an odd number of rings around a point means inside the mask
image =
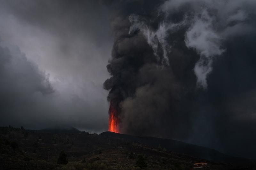
M 67 124 L 94 132 L 107 130 L 107 91 L 102 84 L 109 77 L 106 65 L 112 44 L 108 11 L 97 1 L 0 1 L 2 53 L 11 52 L 11 63 L 18 59 L 25 63 L 5 71 L 16 69 L 13 77 L 27 78 L 40 73 L 52 88 L 47 94 L 37 94 L 40 90 L 22 93 L 16 100 L 27 101 L 27 106 L 2 99 L 6 113 L 1 112 L 1 125 L 40 129 Z M 35 69 L 26 71 L 29 66 Z M 34 85 L 5 77 L 7 73 L 2 74 L 2 81 L 19 84 L 9 87 L 10 92 Z M 42 79 L 34 81 L 42 83 Z

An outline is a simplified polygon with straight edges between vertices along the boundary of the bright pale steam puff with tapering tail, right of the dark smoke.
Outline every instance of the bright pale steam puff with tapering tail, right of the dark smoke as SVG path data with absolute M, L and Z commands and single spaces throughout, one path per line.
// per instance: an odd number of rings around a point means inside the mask
M 191 26 L 185 35 L 185 43 L 188 48 L 194 48 L 200 59 L 195 65 L 197 85 L 207 88 L 207 75 L 212 71 L 212 58 L 221 55 L 224 51 L 220 48 L 221 38 L 213 30 L 213 19 L 206 10 L 195 16 Z

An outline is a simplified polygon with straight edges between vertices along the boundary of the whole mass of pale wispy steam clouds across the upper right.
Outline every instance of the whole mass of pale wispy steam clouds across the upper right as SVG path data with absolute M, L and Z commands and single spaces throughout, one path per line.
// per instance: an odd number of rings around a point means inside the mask
M 184 36 L 187 48 L 194 49 L 200 55 L 194 68 L 197 86 L 207 89 L 207 76 L 213 70 L 213 59 L 225 51 L 222 41 L 227 37 L 241 34 L 241 28 L 244 30 L 243 33 L 251 31 L 252 26 L 246 21 L 250 14 L 255 15 L 254 10 L 248 11 L 255 6 L 256 1 L 252 0 L 243 2 L 238 0 L 169 0 L 160 6 L 159 11 L 163 11 L 168 16 L 177 11 L 186 10 L 182 21 L 172 23 L 165 19 L 156 30 L 153 30 L 143 18 L 131 15 L 129 20 L 132 25 L 129 33 L 139 29 L 152 47 L 157 59 L 162 58 L 162 64 L 169 66 L 168 54 L 171 51 L 171 45 L 166 39 L 180 28 L 186 28 Z M 159 53 L 159 48 L 162 49 L 162 53 Z M 159 56 L 160 54 L 162 56 Z

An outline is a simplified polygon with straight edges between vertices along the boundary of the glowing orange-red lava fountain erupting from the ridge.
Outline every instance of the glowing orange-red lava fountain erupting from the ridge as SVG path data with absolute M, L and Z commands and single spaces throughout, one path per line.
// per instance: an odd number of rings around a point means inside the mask
M 118 113 L 116 108 L 113 106 L 114 104 L 110 101 L 109 106 L 109 119 L 108 119 L 108 131 L 119 133 L 119 120 L 118 120 Z

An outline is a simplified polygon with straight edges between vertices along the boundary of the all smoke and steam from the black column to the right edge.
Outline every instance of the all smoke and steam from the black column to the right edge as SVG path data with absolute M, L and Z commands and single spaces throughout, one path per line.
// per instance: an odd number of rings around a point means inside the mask
M 256 158 L 255 1 L 111 1 L 121 133 Z

